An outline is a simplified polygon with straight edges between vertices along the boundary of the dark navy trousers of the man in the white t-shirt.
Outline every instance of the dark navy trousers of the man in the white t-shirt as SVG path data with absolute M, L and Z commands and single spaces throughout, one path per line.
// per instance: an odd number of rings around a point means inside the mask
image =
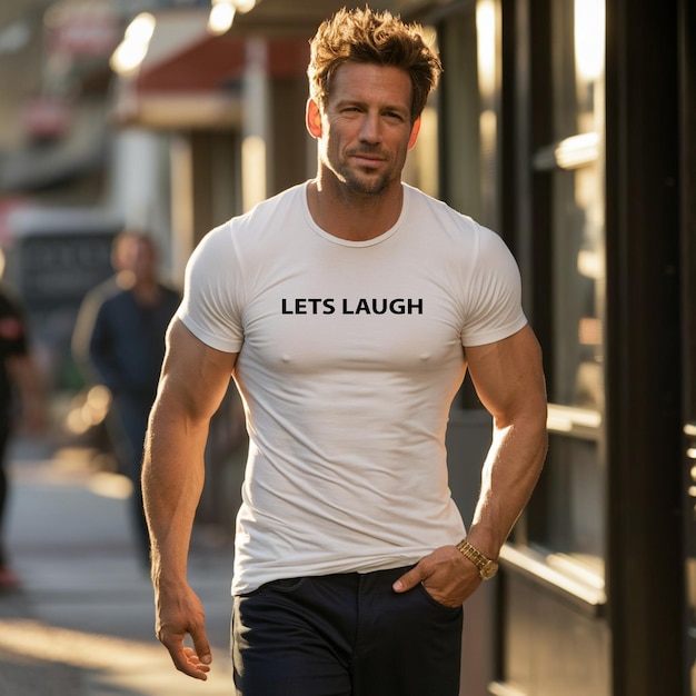
M 277 580 L 235 597 L 237 696 L 457 696 L 461 607 L 407 568 Z

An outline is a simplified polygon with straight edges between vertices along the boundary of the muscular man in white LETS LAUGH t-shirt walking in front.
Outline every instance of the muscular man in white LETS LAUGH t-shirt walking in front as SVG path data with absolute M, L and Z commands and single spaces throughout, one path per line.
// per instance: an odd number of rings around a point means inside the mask
M 206 237 L 169 328 L 143 469 L 157 632 L 206 678 L 186 559 L 208 421 L 233 375 L 250 438 L 236 693 L 454 696 L 461 605 L 545 456 L 539 348 L 499 237 L 401 183 L 440 73 L 419 28 L 344 10 L 311 48 L 316 179 Z M 495 432 L 465 540 L 444 440 L 467 367 Z

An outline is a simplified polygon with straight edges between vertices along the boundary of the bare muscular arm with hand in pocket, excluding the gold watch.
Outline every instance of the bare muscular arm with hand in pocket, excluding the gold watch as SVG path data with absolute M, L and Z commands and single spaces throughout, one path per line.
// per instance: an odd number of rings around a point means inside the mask
M 529 326 L 501 341 L 467 348 L 466 354 L 474 386 L 494 419 L 493 443 L 467 538 L 483 554 L 497 558 L 534 490 L 546 456 L 541 356 Z M 457 606 L 478 587 L 480 578 L 474 564 L 453 545 L 424 558 L 397 580 L 395 589 L 404 591 L 417 583 L 441 604 Z

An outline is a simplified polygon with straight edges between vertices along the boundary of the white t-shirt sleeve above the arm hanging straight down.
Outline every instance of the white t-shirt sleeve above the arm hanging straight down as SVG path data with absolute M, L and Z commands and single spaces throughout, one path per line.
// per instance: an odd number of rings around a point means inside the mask
M 241 288 L 241 268 L 228 222 L 208 232 L 191 255 L 177 317 L 207 346 L 239 352 L 243 341 Z

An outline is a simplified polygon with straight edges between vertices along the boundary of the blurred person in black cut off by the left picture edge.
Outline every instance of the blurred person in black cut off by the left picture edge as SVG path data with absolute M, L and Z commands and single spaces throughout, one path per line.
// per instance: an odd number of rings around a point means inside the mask
M 2 287 L 4 256 L 0 250 L 0 590 L 19 587 L 2 544 L 10 478 L 7 450 L 18 430 L 39 434 L 47 425 L 43 379 L 30 350 L 23 309 Z

